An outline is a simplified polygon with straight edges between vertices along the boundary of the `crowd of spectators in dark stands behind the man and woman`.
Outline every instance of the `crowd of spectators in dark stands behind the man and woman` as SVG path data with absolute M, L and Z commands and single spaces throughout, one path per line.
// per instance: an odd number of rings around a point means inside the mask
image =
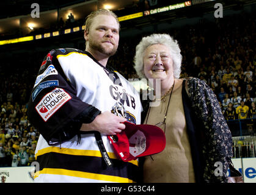
M 202 19 L 196 25 L 166 32 L 180 44 L 181 78 L 205 80 L 227 121 L 256 118 L 255 28 L 255 15 L 244 13 L 219 18 L 214 23 Z M 108 66 L 126 79 L 137 78 L 133 57 L 141 36 L 120 40 L 117 54 L 109 59 Z M 27 102 L 45 53 L 15 55 L 0 66 L 0 167 L 30 165 L 35 160 L 39 137 L 27 118 Z M 24 68 L 27 63 L 29 68 Z M 11 73 L 7 72 L 8 66 L 13 67 Z M 255 132 L 254 126 L 252 131 Z

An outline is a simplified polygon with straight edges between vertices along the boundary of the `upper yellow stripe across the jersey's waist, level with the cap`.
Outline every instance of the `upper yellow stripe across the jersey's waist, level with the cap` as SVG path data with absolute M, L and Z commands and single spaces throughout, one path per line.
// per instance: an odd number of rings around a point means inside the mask
M 81 150 L 81 149 L 70 149 L 66 147 L 45 147 L 44 149 L 40 149 L 36 154 L 35 154 L 35 159 L 39 155 L 43 155 L 49 152 L 56 152 L 60 154 L 69 154 L 69 155 L 82 155 L 82 156 L 91 156 L 91 157 L 102 157 L 100 151 L 92 151 L 92 150 Z M 117 159 L 116 155 L 113 152 L 108 152 L 109 158 L 114 158 Z M 131 160 L 129 161 L 130 163 L 133 163 L 133 165 L 138 166 L 138 161 L 137 160 Z

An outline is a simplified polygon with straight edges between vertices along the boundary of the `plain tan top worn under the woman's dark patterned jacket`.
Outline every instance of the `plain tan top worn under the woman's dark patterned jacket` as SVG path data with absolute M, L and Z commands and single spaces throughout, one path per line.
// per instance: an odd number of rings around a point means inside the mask
M 181 90 L 182 80 L 175 79 L 175 87 L 171 95 L 166 118 L 166 147 L 163 152 L 152 155 L 153 160 L 150 156 L 146 157 L 144 182 L 195 182 Z M 147 124 L 155 125 L 164 120 L 169 98 L 170 93 L 166 95 L 158 107 L 151 107 L 148 110 L 150 113 Z M 146 120 L 147 117 L 145 122 Z M 164 130 L 164 125 L 159 127 Z

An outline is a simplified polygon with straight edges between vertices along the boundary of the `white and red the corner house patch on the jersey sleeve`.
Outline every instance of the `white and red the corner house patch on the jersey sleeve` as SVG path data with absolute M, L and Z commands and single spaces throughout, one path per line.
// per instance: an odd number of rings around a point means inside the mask
M 46 122 L 60 107 L 62 107 L 71 96 L 61 88 L 55 88 L 47 93 L 42 100 L 35 106 L 38 114 Z

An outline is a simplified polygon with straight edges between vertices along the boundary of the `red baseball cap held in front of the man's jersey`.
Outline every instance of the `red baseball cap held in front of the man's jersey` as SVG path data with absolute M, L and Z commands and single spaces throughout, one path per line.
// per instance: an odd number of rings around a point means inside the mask
M 108 135 L 114 152 L 123 161 L 157 154 L 166 147 L 166 136 L 162 129 L 150 124 L 123 122 L 125 129 L 117 135 Z

